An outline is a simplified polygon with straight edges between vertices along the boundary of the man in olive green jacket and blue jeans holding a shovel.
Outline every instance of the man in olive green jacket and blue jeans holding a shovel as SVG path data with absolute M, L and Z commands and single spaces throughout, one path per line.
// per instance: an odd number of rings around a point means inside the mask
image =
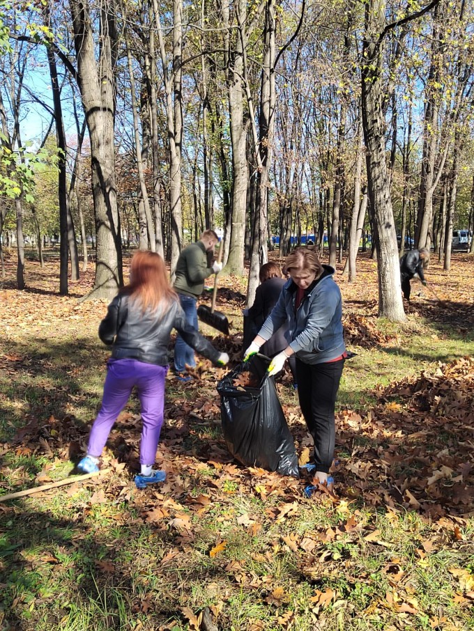
M 217 234 L 213 230 L 206 230 L 201 234 L 199 241 L 181 251 L 176 263 L 174 289 L 178 293 L 186 322 L 194 329 L 198 328 L 196 303 L 204 290 L 204 280 L 222 270 L 222 263 L 215 261 L 211 264 L 218 242 Z M 186 373 L 186 365 L 196 365 L 194 350 L 178 335 L 174 347 L 174 370 L 177 379 L 182 382 L 192 379 Z

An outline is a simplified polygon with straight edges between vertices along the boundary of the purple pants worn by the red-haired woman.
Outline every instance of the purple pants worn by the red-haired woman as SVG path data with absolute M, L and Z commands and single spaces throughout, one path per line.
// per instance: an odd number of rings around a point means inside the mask
M 132 392 L 137 394 L 142 406 L 142 442 L 140 464 L 153 465 L 160 440 L 165 407 L 165 377 L 168 366 L 145 364 L 136 359 L 109 359 L 104 384 L 102 407 L 95 419 L 87 453 L 101 455 L 110 430 L 121 413 Z

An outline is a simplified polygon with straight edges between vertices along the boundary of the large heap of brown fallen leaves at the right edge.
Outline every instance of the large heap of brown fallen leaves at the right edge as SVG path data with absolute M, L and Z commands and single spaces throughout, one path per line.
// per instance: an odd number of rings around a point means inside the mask
M 434 520 L 474 511 L 473 393 L 474 359 L 465 358 L 379 389 L 365 416 L 342 414 L 348 496 Z

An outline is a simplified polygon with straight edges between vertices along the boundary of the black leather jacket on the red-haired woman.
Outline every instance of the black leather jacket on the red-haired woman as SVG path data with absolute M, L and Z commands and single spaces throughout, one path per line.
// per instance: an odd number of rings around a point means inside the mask
M 138 359 L 145 364 L 167 366 L 171 329 L 176 329 L 194 350 L 217 363 L 220 352 L 185 320 L 179 302 L 173 301 L 165 311 L 145 313 L 138 304 L 130 304 L 130 297 L 118 295 L 109 304 L 107 315 L 100 322 L 99 337 L 112 345 L 115 359 Z

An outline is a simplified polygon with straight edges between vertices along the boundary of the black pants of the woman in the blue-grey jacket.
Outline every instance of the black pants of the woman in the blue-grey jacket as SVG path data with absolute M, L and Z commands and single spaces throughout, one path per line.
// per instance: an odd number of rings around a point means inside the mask
M 314 440 L 316 471 L 329 473 L 334 457 L 334 410 L 344 359 L 329 364 L 303 364 L 296 359 L 298 398 Z

